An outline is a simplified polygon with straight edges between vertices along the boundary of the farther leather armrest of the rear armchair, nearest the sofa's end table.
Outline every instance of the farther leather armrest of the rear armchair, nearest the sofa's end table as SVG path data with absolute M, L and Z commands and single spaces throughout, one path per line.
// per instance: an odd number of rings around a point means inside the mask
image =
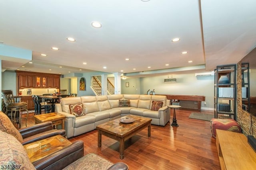
M 52 122 L 45 122 L 45 123 L 38 123 L 36 125 L 32 125 L 30 127 L 24 127 L 22 129 L 18 129 L 20 134 L 22 135 L 22 138 L 27 138 L 33 135 L 36 135 L 38 133 L 42 133 L 45 131 L 52 130 Z

